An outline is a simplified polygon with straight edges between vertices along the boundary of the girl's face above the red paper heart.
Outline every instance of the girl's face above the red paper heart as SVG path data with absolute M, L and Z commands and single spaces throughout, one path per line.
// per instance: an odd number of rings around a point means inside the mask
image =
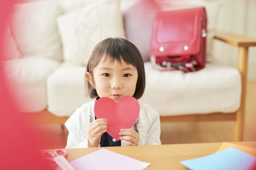
M 109 97 L 116 103 L 126 96 L 133 96 L 138 79 L 138 71 L 133 65 L 124 62 L 114 63 L 104 61 L 104 57 L 100 63 L 94 68 L 94 83 L 92 75 L 86 72 L 86 78 L 90 84 L 96 89 L 99 97 Z

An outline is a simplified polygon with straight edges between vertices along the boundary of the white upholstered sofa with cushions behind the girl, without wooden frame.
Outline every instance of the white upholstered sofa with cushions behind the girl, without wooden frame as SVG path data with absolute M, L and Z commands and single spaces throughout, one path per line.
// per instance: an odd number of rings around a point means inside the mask
M 104 1 L 105 4 L 80 0 L 16 5 L 10 16 L 11 34 L 8 34 L 8 40 L 15 40 L 11 49 L 16 48 L 16 53 L 3 63 L 20 111 L 36 113 L 47 109 L 58 117 L 69 117 L 83 103 L 92 101 L 84 92 L 85 64 L 94 45 L 108 36 L 126 36 L 139 47 L 143 56 L 145 49 L 149 55 L 150 28 L 147 27 L 145 35 L 132 30 L 140 24 L 135 21 L 134 13 L 145 3 L 141 1 L 121 0 L 121 8 L 116 6 L 117 0 Z M 120 15 L 109 13 L 110 8 Z M 152 6 L 149 8 L 154 12 Z M 104 9 L 107 10 L 102 11 Z M 147 16 L 151 17 L 149 24 L 152 23 L 152 14 Z M 138 15 L 137 19 L 143 18 Z M 128 26 L 131 20 L 137 25 Z M 212 41 L 210 31 L 214 31 L 214 22 L 210 23 L 209 40 Z M 133 34 L 141 37 L 134 38 Z M 209 40 L 208 46 L 211 45 Z M 211 47 L 207 48 L 211 52 Z M 160 116 L 237 111 L 241 96 L 240 73 L 210 55 L 208 53 L 208 61 L 211 62 L 192 73 L 158 71 L 146 61 L 146 89 L 139 100 L 158 111 Z

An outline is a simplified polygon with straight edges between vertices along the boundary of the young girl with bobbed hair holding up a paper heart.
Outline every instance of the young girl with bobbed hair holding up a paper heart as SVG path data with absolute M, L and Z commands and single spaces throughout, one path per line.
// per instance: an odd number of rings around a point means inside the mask
M 123 38 L 107 38 L 94 47 L 85 73 L 87 95 L 94 101 L 82 105 L 65 123 L 66 148 L 104 146 L 160 145 L 159 114 L 140 104 L 138 119 L 132 128 L 120 129 L 120 140 L 108 134 L 108 120 L 97 119 L 94 104 L 100 97 L 116 103 L 126 96 L 137 100 L 145 89 L 145 70 L 137 47 Z

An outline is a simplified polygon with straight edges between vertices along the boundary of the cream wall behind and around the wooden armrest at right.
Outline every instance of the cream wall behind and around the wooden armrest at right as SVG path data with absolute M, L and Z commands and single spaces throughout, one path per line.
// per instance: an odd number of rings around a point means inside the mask
M 256 38 L 256 0 L 223 0 L 218 30 Z M 238 47 L 214 40 L 214 56 L 226 65 L 237 67 Z M 248 80 L 256 81 L 256 47 L 249 48 Z

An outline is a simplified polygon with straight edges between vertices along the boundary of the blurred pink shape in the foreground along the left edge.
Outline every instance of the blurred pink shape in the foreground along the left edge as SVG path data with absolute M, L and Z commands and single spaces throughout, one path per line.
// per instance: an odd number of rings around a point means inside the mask
M 0 1 L 0 60 L 2 59 L 2 42 L 4 23 L 14 0 Z M 0 65 L 0 166 L 2 170 L 49 170 L 38 153 L 40 134 L 32 132 L 21 114 L 16 110 L 16 104 L 10 97 Z M 47 140 L 47 139 L 44 139 Z M 43 142 L 43 141 L 42 141 Z

